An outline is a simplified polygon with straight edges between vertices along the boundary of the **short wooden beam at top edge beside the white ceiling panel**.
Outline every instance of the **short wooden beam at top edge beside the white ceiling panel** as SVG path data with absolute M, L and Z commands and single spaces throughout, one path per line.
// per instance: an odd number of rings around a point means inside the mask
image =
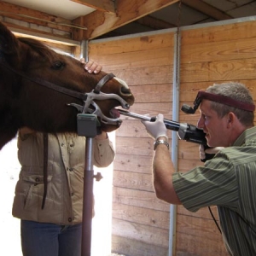
M 75 3 L 84 4 L 90 8 L 97 9 L 99 11 L 114 14 L 114 1 L 113 0 L 71 0 Z

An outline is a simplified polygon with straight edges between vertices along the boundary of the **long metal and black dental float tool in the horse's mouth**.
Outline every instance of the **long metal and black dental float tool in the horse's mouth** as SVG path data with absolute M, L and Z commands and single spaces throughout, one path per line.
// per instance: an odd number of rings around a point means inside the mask
M 125 116 L 129 116 L 134 119 L 148 120 L 154 122 L 156 117 L 148 117 L 146 115 L 131 113 L 129 111 L 118 109 L 119 113 Z M 177 136 L 181 140 L 185 140 L 189 143 L 197 143 L 207 145 L 206 134 L 198 129 L 195 125 L 189 125 L 187 123 L 178 123 L 172 120 L 164 119 L 164 123 L 168 130 L 177 131 Z

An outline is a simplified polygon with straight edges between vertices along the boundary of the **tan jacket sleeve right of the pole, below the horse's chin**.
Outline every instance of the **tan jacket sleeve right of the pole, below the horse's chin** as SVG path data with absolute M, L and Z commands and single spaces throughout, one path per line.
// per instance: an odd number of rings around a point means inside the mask
M 94 165 L 107 167 L 114 159 L 113 143 L 108 139 L 94 140 Z

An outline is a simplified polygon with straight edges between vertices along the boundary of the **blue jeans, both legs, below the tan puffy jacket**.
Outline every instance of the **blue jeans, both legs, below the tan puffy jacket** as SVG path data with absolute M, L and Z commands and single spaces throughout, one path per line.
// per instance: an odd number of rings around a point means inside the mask
M 24 256 L 81 256 L 82 224 L 21 220 L 20 234 Z

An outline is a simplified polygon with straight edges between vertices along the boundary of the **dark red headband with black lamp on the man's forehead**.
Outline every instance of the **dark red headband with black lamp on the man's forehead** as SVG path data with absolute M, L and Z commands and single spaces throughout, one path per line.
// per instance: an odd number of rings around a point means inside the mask
M 195 98 L 194 108 L 184 104 L 182 106 L 182 111 L 184 113 L 195 113 L 196 109 L 201 104 L 202 99 L 212 101 L 212 102 L 222 103 L 224 105 L 228 105 L 230 107 L 239 108 L 239 109 L 246 110 L 246 111 L 254 111 L 255 110 L 254 104 L 250 104 L 247 102 L 241 102 L 241 101 L 232 99 L 228 96 L 222 96 L 219 94 L 213 94 L 213 93 L 210 93 L 210 92 L 207 92 L 204 90 L 200 90 Z

